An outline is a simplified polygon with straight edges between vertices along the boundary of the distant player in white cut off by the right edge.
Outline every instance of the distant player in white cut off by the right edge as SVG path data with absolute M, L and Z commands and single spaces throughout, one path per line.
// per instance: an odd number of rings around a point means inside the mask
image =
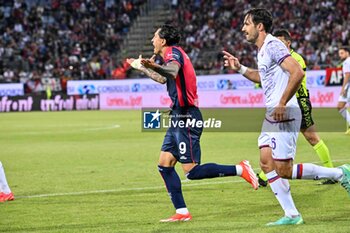
M 348 124 L 346 134 L 350 134 L 350 114 L 346 109 L 346 104 L 350 102 L 350 48 L 342 47 L 338 51 L 340 59 L 343 61 L 343 85 L 338 99 L 338 111 Z

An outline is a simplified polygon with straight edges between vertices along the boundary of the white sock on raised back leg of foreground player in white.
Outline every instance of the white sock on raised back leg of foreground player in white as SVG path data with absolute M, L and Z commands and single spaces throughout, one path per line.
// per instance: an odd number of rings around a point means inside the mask
M 300 163 L 293 165 L 292 179 L 334 179 L 340 180 L 343 177 L 343 171 L 340 168 L 321 167 L 312 163 Z

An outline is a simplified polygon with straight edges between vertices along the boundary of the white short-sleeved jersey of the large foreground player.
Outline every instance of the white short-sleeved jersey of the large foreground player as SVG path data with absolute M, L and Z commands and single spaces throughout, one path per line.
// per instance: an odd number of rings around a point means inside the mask
M 287 47 L 276 37 L 268 34 L 258 53 L 258 70 L 265 95 L 265 105 L 275 107 L 287 87 L 289 73 L 280 64 L 290 56 Z M 299 107 L 295 95 L 287 103 L 288 107 Z

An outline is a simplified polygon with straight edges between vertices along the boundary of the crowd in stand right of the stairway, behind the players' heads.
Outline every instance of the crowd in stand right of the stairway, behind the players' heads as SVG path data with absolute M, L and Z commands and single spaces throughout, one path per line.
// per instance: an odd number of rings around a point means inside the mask
M 244 12 L 252 7 L 271 10 L 274 28 L 291 32 L 292 47 L 306 58 L 309 69 L 335 66 L 337 48 L 350 43 L 348 0 L 181 0 L 172 7 L 176 9 L 172 21 L 179 27 L 186 25 L 184 47 L 197 70 L 206 70 L 204 73 L 224 72 L 218 54 L 223 49 L 233 52 L 243 64 L 256 66 L 257 51 L 244 42 L 240 30 Z

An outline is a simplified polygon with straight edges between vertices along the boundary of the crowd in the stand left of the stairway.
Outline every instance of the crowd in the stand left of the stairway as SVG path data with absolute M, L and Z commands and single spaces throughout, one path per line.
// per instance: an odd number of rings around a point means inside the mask
M 106 79 L 146 0 L 0 0 L 0 81 Z M 120 75 L 120 74 L 119 74 Z

